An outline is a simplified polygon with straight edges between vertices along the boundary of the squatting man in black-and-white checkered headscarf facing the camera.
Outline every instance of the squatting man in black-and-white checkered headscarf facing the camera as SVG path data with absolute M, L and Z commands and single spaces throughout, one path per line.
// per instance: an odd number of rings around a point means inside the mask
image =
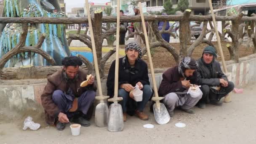
M 148 115 L 143 112 L 144 107 L 152 95 L 149 86 L 147 64 L 141 60 L 141 48 L 138 43 L 131 42 L 125 47 L 125 57 L 119 59 L 118 96 L 123 97 L 120 104 L 123 108 L 123 120 L 126 121 L 127 112 L 138 116 L 141 120 L 148 120 Z M 114 95 L 115 61 L 112 62 L 107 77 L 107 95 Z M 133 100 L 133 89 L 138 85 L 143 91 L 142 101 Z M 137 106 L 136 106 L 137 105 Z

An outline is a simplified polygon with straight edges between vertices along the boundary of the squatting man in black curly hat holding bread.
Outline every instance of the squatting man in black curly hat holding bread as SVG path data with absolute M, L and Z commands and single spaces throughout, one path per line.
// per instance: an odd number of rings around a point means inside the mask
M 45 109 L 45 120 L 59 131 L 65 128 L 69 121 L 89 126 L 90 122 L 84 119 L 95 99 L 96 87 L 94 77 L 88 80 L 88 85 L 80 87 L 86 80 L 87 72 L 79 66 L 82 60 L 77 56 L 68 56 L 62 60 L 64 67 L 48 77 L 48 82 L 41 95 Z

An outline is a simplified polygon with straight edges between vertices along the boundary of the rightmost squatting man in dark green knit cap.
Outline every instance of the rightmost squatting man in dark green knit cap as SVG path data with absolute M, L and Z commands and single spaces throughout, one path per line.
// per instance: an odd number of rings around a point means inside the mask
M 202 85 L 200 89 L 203 92 L 199 108 L 205 108 L 205 103 L 222 106 L 219 100 L 234 89 L 234 83 L 228 81 L 215 58 L 215 48 L 208 46 L 204 49 L 202 58 L 198 59 L 198 83 Z

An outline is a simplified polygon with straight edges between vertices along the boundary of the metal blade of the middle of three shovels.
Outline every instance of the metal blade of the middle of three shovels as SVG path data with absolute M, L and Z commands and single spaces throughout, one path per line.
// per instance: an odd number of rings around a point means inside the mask
M 122 131 L 123 124 L 123 109 L 121 104 L 111 104 L 109 107 L 109 120 L 107 129 L 112 132 Z

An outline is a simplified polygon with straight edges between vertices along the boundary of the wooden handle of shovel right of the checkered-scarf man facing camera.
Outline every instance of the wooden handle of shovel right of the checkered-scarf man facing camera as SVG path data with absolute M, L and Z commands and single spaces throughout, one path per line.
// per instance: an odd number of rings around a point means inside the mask
M 149 65 L 150 65 L 150 72 L 151 72 L 151 77 L 152 77 L 152 82 L 153 82 L 153 88 L 154 88 L 154 92 L 155 92 L 155 97 L 158 97 L 157 85 L 156 85 L 156 82 L 155 82 L 155 72 L 154 72 L 151 53 L 150 53 L 150 49 L 149 49 L 149 38 L 147 36 L 147 29 L 146 29 L 146 24 L 145 24 L 145 20 L 144 20 L 143 11 L 142 11 L 142 8 L 141 8 L 141 2 L 139 2 L 139 11 L 140 11 L 140 15 L 141 15 L 143 33 L 144 33 L 144 37 L 145 37 L 145 41 L 146 41 L 147 57 L 149 59 Z

